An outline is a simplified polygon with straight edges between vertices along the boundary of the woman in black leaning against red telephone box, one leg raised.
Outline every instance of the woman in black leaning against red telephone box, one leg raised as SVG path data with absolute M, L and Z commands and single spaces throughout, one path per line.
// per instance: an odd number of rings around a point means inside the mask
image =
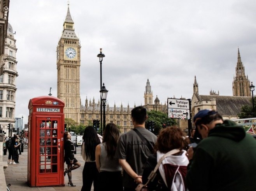
M 68 174 L 68 186 L 75 186 L 72 183 L 72 173 L 71 170 L 75 170 L 81 166 L 80 162 L 77 161 L 77 159 L 74 157 L 75 152 L 75 145 L 71 141 L 71 135 L 70 132 L 66 131 L 64 132 L 64 150 L 65 150 L 65 162 L 68 165 L 68 168 L 65 169 L 64 176 Z M 73 166 L 74 165 L 74 166 Z

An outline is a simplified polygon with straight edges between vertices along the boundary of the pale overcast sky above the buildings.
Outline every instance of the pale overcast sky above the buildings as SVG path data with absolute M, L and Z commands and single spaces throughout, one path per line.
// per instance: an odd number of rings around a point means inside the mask
M 57 96 L 56 47 L 67 0 L 10 0 L 9 23 L 18 48 L 16 114 L 27 123 L 31 98 Z M 110 107 L 144 105 L 147 79 L 154 98 L 191 99 L 199 93 L 233 95 L 239 47 L 245 74 L 255 81 L 255 0 L 70 0 L 81 41 L 82 104 L 100 98 L 102 81 Z M 256 81 L 255 81 L 256 84 Z

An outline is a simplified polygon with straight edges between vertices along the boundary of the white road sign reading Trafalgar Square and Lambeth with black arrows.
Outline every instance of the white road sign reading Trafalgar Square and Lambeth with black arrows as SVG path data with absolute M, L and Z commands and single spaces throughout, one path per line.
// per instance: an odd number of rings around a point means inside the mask
M 189 100 L 168 98 L 168 118 L 190 119 Z

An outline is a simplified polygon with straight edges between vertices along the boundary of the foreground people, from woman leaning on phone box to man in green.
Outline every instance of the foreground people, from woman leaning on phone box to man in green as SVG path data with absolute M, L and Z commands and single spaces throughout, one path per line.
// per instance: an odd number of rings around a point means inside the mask
M 92 184 L 95 191 L 256 188 L 256 141 L 235 122 L 223 120 L 214 110 L 200 110 L 189 137 L 175 126 L 156 136 L 145 128 L 146 108 L 135 107 L 131 115 L 134 129 L 121 135 L 113 123 L 105 127 L 102 141 L 92 126 L 84 130 L 81 191 L 90 191 Z M 71 175 L 81 164 L 74 158 L 72 143 L 65 145 L 64 175 Z

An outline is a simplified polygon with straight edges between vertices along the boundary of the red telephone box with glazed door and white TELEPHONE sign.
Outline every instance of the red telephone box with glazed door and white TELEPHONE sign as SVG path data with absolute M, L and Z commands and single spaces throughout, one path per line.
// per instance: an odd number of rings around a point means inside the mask
M 65 186 L 64 105 L 53 96 L 40 96 L 29 101 L 29 186 Z

